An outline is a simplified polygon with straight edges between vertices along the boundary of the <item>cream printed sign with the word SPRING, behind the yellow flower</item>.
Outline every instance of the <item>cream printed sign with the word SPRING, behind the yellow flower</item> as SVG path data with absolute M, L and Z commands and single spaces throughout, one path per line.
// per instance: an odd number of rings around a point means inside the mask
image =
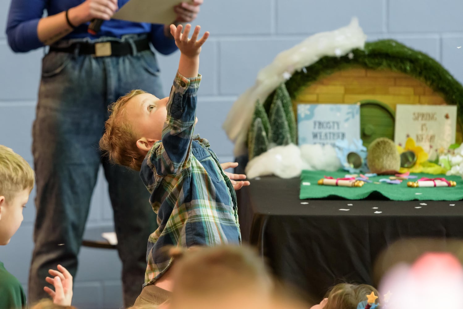
M 411 137 L 429 154 L 430 160 L 437 158 L 439 149 L 455 143 L 456 130 L 456 105 L 396 106 L 394 142 L 403 147 Z

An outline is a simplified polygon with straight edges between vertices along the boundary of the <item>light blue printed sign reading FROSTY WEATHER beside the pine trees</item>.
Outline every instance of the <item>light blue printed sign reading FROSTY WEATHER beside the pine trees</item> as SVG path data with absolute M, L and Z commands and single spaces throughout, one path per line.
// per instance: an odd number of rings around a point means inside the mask
M 298 104 L 297 132 L 299 145 L 360 139 L 360 104 Z

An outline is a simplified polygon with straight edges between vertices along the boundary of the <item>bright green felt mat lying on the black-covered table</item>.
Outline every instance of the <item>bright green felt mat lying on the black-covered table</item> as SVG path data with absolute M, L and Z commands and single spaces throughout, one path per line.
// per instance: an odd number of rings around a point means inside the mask
M 463 199 L 463 180 L 460 176 L 412 174 L 416 179 L 403 180 L 400 185 L 381 183 L 365 183 L 363 187 L 342 187 L 332 185 L 318 185 L 318 180 L 325 176 L 344 178 L 347 172 L 302 171 L 300 175 L 300 199 L 306 198 L 345 198 L 363 199 L 371 197 L 385 197 L 393 201 L 432 200 L 432 201 L 458 201 Z M 416 181 L 422 177 L 445 178 L 457 182 L 456 187 L 409 188 L 407 181 Z M 379 182 L 389 176 L 370 177 L 369 180 Z M 309 185 L 310 183 L 310 185 Z M 421 194 L 418 194 L 421 193 Z

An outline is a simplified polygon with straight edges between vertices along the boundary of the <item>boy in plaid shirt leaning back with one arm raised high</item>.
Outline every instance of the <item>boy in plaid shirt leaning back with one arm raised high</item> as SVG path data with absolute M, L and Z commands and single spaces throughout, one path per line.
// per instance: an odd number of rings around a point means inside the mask
M 182 29 L 182 25 L 170 26 L 181 51 L 170 96 L 158 99 L 134 90 L 120 98 L 110 109 L 100 140 L 110 159 L 140 171 L 157 213 L 159 228 L 148 240 L 142 294 L 152 285 L 169 290 L 171 284 L 165 281 L 171 277 L 167 270 L 172 259 L 162 253 L 162 247 L 241 242 L 235 189 L 249 182 L 232 183 L 230 178 L 245 176 L 229 178 L 209 142 L 193 135 L 201 80 L 199 55 L 209 32 L 198 39 L 200 27 L 196 26 L 189 39 L 191 25 L 185 26 L 183 34 Z

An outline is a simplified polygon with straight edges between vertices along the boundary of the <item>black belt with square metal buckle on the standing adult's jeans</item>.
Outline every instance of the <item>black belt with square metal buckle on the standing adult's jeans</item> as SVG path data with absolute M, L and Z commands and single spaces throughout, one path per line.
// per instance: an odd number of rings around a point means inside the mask
M 150 49 L 148 39 L 144 38 L 141 40 L 133 41 L 138 52 Z M 127 56 L 133 55 L 132 45 L 129 42 L 116 42 L 107 41 L 99 43 L 73 43 L 69 47 L 54 47 L 50 46 L 51 51 L 58 51 L 63 53 L 75 53 L 78 49 L 79 55 L 94 55 L 97 57 L 106 56 Z

